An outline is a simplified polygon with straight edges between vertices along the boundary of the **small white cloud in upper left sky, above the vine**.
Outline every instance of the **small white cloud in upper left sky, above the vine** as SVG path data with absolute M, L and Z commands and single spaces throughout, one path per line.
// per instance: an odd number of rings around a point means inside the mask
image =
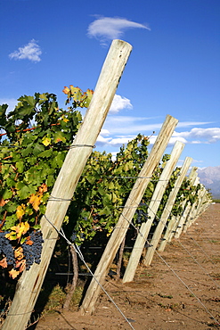
M 29 60 L 32 62 L 40 62 L 41 54 L 42 51 L 39 45 L 37 45 L 37 41 L 35 39 L 32 39 L 28 45 L 19 47 L 19 50 L 9 54 L 9 57 L 13 60 Z

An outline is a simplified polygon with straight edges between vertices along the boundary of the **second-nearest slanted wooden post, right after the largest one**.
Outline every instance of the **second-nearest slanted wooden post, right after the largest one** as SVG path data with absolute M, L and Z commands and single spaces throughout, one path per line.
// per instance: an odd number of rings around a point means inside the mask
M 86 296 L 80 308 L 83 315 L 94 312 L 94 305 L 101 290 L 97 281 L 101 285 L 104 283 L 110 264 L 114 260 L 116 252 L 126 235 L 127 228 L 134 217 L 134 212 L 142 200 L 146 187 L 151 181 L 153 170 L 158 166 L 159 160 L 167 147 L 167 143 L 174 132 L 177 122 L 178 120 L 167 115 L 166 121 L 159 132 L 159 136 L 151 149 L 151 153 L 149 154 L 147 161 L 144 163 L 143 169 L 139 173 L 134 187 L 128 196 L 126 205 L 118 219 L 118 223 L 110 235 L 110 240 L 95 270 L 94 278 L 87 289 Z

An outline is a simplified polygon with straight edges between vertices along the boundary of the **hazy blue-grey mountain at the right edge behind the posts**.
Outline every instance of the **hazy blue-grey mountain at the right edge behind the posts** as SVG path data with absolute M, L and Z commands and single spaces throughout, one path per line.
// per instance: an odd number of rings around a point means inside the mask
M 200 183 L 211 190 L 214 199 L 220 199 L 220 166 L 198 169 Z

